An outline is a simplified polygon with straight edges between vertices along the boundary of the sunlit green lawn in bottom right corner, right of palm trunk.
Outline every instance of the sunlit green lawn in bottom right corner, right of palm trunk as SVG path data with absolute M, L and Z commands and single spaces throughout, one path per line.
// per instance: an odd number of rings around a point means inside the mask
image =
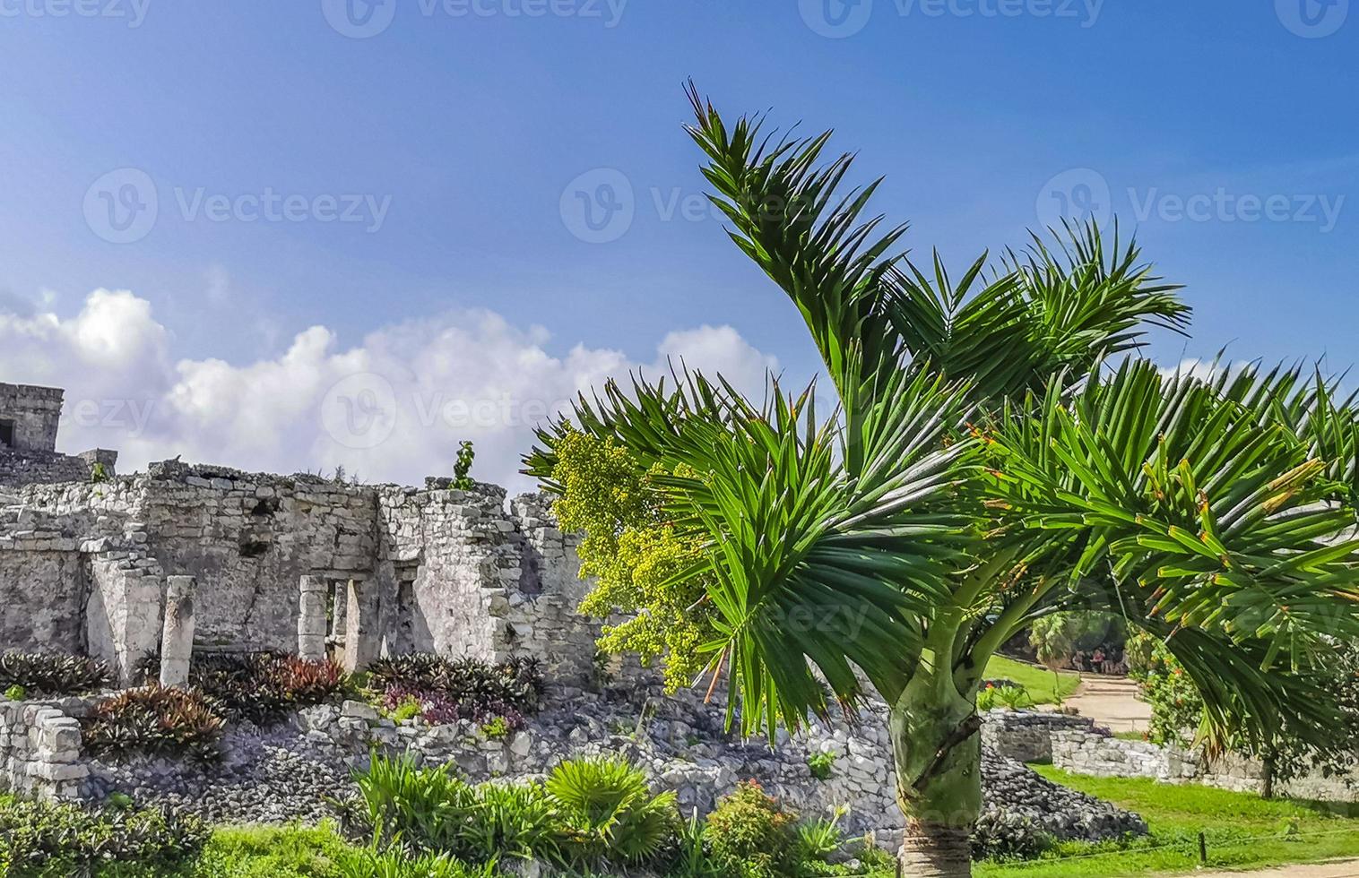
M 1031 768 L 1049 780 L 1142 814 L 1151 836 L 1129 844 L 1065 844 L 1049 858 L 1029 863 L 977 863 L 978 878 L 1189 873 L 1199 866 L 1200 832 L 1208 839 L 1208 866 L 1214 868 L 1263 868 L 1359 856 L 1356 805 L 1267 802 L 1257 795 L 1197 784 L 1084 777 L 1051 765 Z

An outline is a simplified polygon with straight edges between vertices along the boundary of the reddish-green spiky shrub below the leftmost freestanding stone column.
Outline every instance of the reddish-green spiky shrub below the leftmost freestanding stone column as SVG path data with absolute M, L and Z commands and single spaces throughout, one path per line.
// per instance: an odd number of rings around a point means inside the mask
M 223 724 L 215 705 L 200 692 L 159 685 L 105 699 L 82 720 L 86 749 L 96 756 L 183 756 L 200 761 L 220 754 Z

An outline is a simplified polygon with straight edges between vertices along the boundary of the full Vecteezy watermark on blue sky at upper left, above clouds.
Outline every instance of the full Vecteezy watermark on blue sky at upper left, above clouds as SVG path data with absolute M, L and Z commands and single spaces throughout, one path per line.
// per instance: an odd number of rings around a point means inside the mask
M 272 186 L 236 194 L 174 186 L 174 205 L 186 223 L 345 223 L 382 231 L 391 196 L 363 193 L 281 193 Z M 135 243 L 151 234 L 160 216 L 160 192 L 145 171 L 121 167 L 86 190 L 86 224 L 109 243 Z

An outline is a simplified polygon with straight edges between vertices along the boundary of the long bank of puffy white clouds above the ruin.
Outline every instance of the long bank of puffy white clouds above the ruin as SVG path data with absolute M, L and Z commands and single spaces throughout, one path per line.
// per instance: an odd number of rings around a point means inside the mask
M 684 360 L 760 393 L 779 368 L 730 326 L 673 332 L 650 363 L 584 345 L 553 356 L 548 341 L 541 326 L 469 310 L 383 326 L 352 348 L 313 326 L 273 359 L 175 362 L 148 302 L 98 289 L 67 319 L 0 311 L 0 381 L 65 387 L 61 449 L 118 449 L 122 472 L 179 454 L 419 484 L 450 474 L 470 439 L 476 477 L 523 489 L 533 427 L 609 376 Z

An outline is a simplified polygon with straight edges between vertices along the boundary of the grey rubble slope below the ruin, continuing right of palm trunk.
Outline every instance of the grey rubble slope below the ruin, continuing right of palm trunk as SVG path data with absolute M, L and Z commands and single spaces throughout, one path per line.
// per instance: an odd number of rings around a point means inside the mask
M 428 762 L 455 762 L 469 780 L 541 775 L 572 754 L 614 753 L 644 767 L 660 787 L 675 790 L 682 809 L 707 811 L 738 780 L 758 779 L 807 815 L 852 806 L 851 833 L 872 832 L 892 845 L 901 830 L 890 748 L 882 718 L 871 709 L 859 724 L 834 723 L 783 737 L 771 749 L 723 730 L 720 705 L 693 695 L 659 697 L 637 688 L 605 695 L 561 690 L 526 730 L 491 741 L 469 723 L 397 726 L 357 703 L 308 708 L 294 720 L 261 730 L 234 727 L 224 757 L 212 765 L 166 760 L 98 762 L 87 782 L 95 798 L 113 791 L 141 803 L 160 802 L 213 822 L 317 821 L 326 801 L 353 791 L 351 767 L 370 746 L 410 752 Z M 813 776 L 811 753 L 833 753 L 830 776 Z M 1101 840 L 1146 833 L 1135 814 L 1052 784 L 1019 762 L 984 750 L 987 815 L 983 826 L 1022 824 L 1059 839 Z

